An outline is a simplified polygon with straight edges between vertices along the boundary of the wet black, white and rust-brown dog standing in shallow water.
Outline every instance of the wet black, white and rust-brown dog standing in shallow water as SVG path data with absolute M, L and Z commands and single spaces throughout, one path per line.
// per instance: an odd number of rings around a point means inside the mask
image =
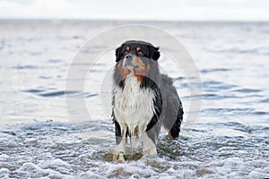
M 142 141 L 143 154 L 157 154 L 161 124 L 178 139 L 183 107 L 173 81 L 159 71 L 159 47 L 129 40 L 116 49 L 112 118 L 117 147 L 114 160 L 126 160 L 127 137 Z

